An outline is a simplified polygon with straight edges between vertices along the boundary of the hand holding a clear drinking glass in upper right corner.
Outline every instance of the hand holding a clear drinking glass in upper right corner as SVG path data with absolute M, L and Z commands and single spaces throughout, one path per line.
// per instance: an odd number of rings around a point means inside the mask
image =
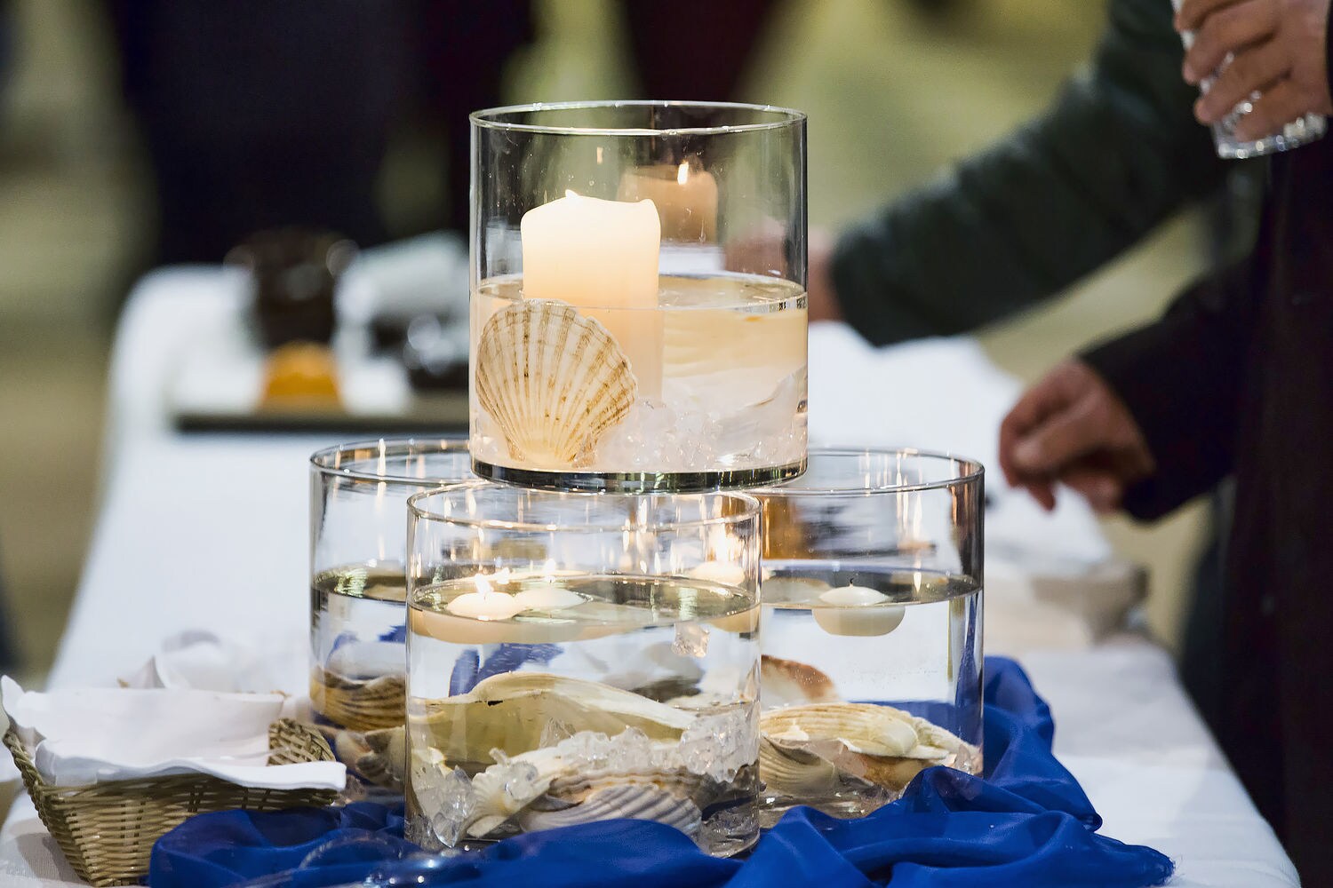
M 1333 114 L 1328 19 L 1329 0 L 1184 0 L 1176 29 L 1194 32 L 1185 80 L 1198 84 L 1221 68 L 1194 117 L 1214 124 L 1256 92 L 1253 111 L 1236 125 L 1242 140 L 1276 133 L 1305 113 Z

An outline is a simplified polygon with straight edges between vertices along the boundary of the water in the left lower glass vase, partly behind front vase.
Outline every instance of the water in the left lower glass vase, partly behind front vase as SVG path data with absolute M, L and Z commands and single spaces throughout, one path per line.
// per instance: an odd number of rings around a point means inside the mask
M 407 698 L 403 564 L 352 564 L 311 583 L 311 708 L 372 796 L 401 795 Z

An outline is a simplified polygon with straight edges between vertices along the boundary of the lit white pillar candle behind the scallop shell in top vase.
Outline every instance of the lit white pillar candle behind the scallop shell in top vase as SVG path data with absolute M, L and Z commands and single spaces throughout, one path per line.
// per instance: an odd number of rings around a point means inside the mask
M 659 398 L 661 224 L 653 202 L 604 201 L 567 192 L 524 213 L 520 233 L 524 298 L 560 300 L 600 321 L 629 358 L 639 397 Z

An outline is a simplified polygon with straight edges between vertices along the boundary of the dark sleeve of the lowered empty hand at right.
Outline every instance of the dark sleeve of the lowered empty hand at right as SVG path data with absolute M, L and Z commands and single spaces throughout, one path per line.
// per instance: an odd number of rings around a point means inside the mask
M 1129 407 L 1157 463 L 1125 491 L 1130 515 L 1160 518 L 1232 471 L 1262 293 L 1254 274 L 1248 260 L 1206 277 L 1156 324 L 1080 355 Z

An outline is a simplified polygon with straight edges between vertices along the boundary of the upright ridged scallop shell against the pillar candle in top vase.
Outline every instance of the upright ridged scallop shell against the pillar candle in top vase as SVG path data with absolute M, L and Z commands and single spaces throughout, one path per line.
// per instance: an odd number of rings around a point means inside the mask
M 496 312 L 476 359 L 477 401 L 509 455 L 537 466 L 587 463 L 639 389 L 607 328 L 564 302 L 523 300 Z

